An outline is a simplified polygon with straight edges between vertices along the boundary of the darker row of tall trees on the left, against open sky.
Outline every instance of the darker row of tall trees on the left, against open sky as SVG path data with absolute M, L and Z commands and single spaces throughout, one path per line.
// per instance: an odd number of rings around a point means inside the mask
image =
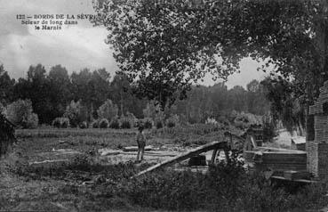
M 98 118 L 97 110 L 107 99 L 119 105 L 119 114 L 129 110 L 140 117 L 146 105 L 146 101 L 131 94 L 124 76 L 116 75 L 111 80 L 106 69 L 83 69 L 68 75 L 68 70 L 60 65 L 47 73 L 44 66 L 38 64 L 29 67 L 27 77 L 16 81 L 0 66 L 0 81 L 1 103 L 6 106 L 19 99 L 30 100 L 41 124 L 51 124 L 54 118 L 63 116 L 72 100 L 81 101 L 88 121 Z

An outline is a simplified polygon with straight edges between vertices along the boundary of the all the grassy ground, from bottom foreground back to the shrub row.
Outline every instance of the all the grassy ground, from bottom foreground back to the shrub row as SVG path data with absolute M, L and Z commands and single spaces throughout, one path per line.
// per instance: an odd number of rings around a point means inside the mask
M 190 147 L 220 140 L 222 132 L 212 126 L 186 126 L 146 133 L 148 144 L 154 146 Z M 132 180 L 151 164 L 110 165 L 95 156 L 100 148 L 135 145 L 135 133 L 135 129 L 17 130 L 18 143 L 0 163 L 0 211 L 305 211 L 328 205 L 325 184 L 287 192 L 260 175 L 247 174 L 236 159 L 212 167 L 207 175 L 161 170 Z M 49 159 L 44 152 L 53 149 L 82 153 L 65 163 L 28 165 Z

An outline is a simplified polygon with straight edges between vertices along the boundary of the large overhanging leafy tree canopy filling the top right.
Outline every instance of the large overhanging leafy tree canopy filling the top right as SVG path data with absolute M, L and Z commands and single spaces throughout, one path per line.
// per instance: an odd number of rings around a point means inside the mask
M 176 91 L 184 97 L 205 73 L 226 78 L 250 56 L 266 61 L 262 70 L 271 64 L 292 86 L 302 88 L 306 104 L 316 99 L 328 79 L 325 1 L 195 2 L 95 4 L 95 22 L 108 29 L 119 68 L 140 94 L 164 105 L 174 101 Z

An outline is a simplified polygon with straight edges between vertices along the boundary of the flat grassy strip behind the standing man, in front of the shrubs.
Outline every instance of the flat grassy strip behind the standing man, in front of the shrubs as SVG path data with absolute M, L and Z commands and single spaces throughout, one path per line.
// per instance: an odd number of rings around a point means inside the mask
M 100 148 L 120 149 L 136 145 L 137 129 L 20 129 L 16 131 L 19 147 L 27 157 L 52 149 L 88 152 Z M 146 130 L 148 145 L 200 145 L 222 139 L 222 130 L 214 127 L 189 126 Z M 63 143 L 63 141 L 65 143 Z

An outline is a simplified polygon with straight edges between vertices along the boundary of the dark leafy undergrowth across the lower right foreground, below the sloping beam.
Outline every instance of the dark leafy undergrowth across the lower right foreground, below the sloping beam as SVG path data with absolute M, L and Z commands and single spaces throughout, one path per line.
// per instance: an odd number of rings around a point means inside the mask
M 263 175 L 247 174 L 233 153 L 206 175 L 154 172 L 120 183 L 114 195 L 126 197 L 132 205 L 170 211 L 305 211 L 325 206 L 326 189 L 318 184 L 287 192 Z

